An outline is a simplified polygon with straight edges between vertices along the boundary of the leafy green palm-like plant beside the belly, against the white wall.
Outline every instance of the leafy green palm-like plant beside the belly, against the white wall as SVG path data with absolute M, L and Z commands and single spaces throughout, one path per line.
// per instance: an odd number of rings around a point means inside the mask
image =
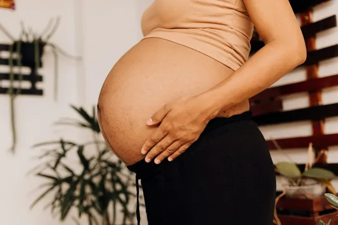
M 59 215 L 61 221 L 73 210 L 77 211 L 79 218 L 85 216 L 89 225 L 133 224 L 135 214 L 132 212 L 135 210 L 130 205 L 135 202 L 135 194 L 129 187 L 135 186 L 135 182 L 131 172 L 110 152 L 105 142 L 99 140 L 95 108 L 92 115 L 81 107 L 72 108 L 82 121 L 68 119 L 59 124 L 90 130 L 93 140 L 79 144 L 60 139 L 34 146 L 44 150 L 39 157 L 41 166 L 33 172 L 46 183 L 31 207 L 50 195 L 48 207 Z M 74 163 L 74 155 L 79 164 Z M 117 221 L 118 213 L 122 215 L 121 221 Z

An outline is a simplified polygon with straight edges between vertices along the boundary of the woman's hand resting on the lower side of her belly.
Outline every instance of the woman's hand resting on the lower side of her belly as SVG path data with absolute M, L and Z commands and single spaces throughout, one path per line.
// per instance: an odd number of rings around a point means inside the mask
M 142 154 L 147 154 L 146 162 L 155 156 L 156 164 L 167 157 L 172 161 L 187 150 L 216 115 L 210 106 L 210 99 L 197 95 L 174 100 L 155 113 L 147 124 L 161 124 L 141 149 Z

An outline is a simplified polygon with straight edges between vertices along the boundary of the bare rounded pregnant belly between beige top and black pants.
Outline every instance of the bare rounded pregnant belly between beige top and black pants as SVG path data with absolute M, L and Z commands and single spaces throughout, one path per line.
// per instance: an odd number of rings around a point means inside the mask
M 142 40 L 115 64 L 103 83 L 98 117 L 107 144 L 127 165 L 143 159 L 141 147 L 156 129 L 146 125 L 149 117 L 169 101 L 202 93 L 232 73 L 190 48 L 159 38 Z M 248 109 L 246 100 L 219 117 Z

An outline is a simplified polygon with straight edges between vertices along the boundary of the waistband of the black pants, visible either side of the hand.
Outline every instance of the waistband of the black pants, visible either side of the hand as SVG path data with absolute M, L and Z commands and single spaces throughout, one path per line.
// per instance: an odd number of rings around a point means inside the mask
M 209 121 L 204 131 L 200 135 L 200 138 L 206 133 L 212 130 L 215 130 L 219 127 L 231 126 L 230 124 L 233 124 L 239 121 L 251 120 L 251 117 L 252 117 L 252 112 L 246 111 L 244 113 L 234 115 L 228 118 L 226 117 L 214 118 Z M 156 171 L 159 171 L 167 163 L 169 163 L 168 160 L 163 160 L 163 162 L 161 162 L 160 164 L 155 164 L 154 161 L 147 163 L 145 160 L 141 160 L 127 167 L 129 170 L 136 173 L 139 179 L 142 179 L 142 178 L 152 176 L 154 173 L 156 173 Z

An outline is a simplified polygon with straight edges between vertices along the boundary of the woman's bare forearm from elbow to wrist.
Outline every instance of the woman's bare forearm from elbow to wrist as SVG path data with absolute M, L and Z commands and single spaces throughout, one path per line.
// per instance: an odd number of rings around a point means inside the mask
M 285 43 L 285 42 L 284 42 Z M 302 64 L 306 50 L 302 42 L 284 44 L 274 41 L 266 44 L 240 69 L 221 83 L 203 93 L 210 102 L 212 114 L 248 99 Z

